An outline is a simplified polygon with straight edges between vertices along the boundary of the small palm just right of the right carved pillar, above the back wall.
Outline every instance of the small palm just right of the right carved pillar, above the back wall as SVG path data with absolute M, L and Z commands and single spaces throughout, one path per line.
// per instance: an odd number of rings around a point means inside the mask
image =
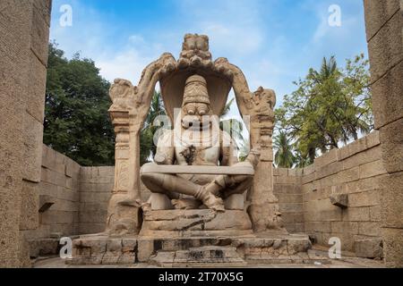
M 274 139 L 274 148 L 277 150 L 274 156 L 274 163 L 281 168 L 292 168 L 295 163 L 295 156 L 292 152 L 292 144 L 286 132 L 279 131 Z

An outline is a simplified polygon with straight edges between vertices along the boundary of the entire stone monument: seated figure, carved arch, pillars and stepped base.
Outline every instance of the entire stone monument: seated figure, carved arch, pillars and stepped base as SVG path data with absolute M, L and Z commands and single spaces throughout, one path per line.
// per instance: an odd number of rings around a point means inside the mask
M 159 132 L 154 162 L 141 166 L 140 134 L 157 83 L 173 129 Z M 244 162 L 219 128 L 231 88 L 250 134 Z M 236 65 L 213 61 L 207 36 L 186 34 L 177 60 L 161 55 L 137 86 L 116 79 L 110 97 L 116 164 L 107 228 L 74 240 L 74 261 L 239 266 L 308 257 L 309 238 L 287 236 L 273 191 L 275 92 L 251 91 Z

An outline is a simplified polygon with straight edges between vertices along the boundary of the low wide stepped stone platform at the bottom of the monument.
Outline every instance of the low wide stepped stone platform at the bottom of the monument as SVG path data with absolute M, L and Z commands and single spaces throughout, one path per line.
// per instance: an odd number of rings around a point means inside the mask
M 312 263 L 306 235 L 275 231 L 244 236 L 109 237 L 86 235 L 73 240 L 70 265 L 134 265 L 163 267 L 243 267 L 262 264 Z

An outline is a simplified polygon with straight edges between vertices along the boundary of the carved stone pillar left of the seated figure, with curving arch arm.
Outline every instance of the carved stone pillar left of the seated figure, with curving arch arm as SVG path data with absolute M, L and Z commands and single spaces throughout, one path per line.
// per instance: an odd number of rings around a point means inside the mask
M 138 86 L 116 79 L 110 88 L 109 113 L 116 133 L 115 184 L 107 207 L 110 235 L 136 234 L 141 229 L 140 131 L 159 78 L 175 67 L 174 57 L 166 53 L 142 71 Z

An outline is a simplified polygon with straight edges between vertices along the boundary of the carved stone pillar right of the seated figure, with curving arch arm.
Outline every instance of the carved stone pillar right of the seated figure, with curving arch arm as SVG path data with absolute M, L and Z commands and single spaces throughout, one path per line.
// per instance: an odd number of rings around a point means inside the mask
M 253 230 L 260 232 L 267 229 L 282 229 L 279 213 L 279 200 L 273 194 L 273 151 L 271 136 L 274 127 L 273 108 L 276 95 L 271 89 L 259 88 L 252 93 L 244 73 L 226 58 L 219 58 L 214 68 L 231 80 L 236 94 L 239 112 L 249 116 L 246 126 L 251 133 L 251 147 L 261 149 L 261 162 L 255 170 L 253 189 L 248 194 L 250 206 L 248 214 L 253 223 Z

